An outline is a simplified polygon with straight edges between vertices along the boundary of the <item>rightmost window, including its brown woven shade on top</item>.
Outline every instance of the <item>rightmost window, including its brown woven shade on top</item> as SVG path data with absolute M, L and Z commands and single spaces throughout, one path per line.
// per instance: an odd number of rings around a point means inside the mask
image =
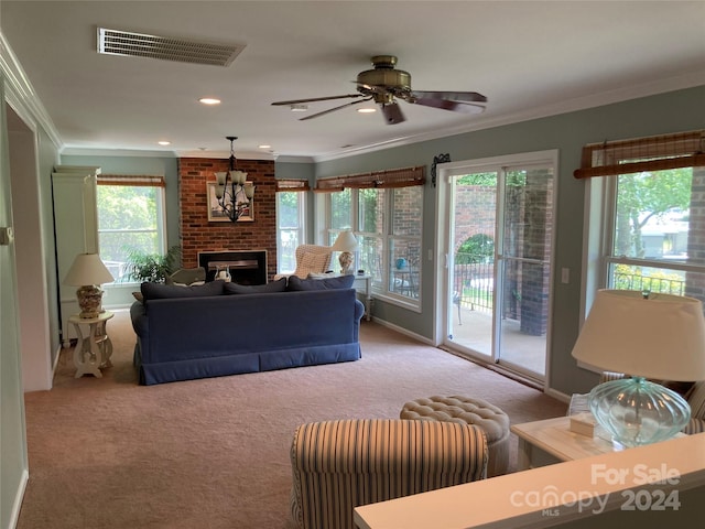
M 692 138 L 690 140 L 688 138 Z M 701 132 L 596 145 L 589 156 L 601 196 L 601 279 L 596 287 L 705 301 L 705 160 Z M 588 163 L 584 155 L 584 163 Z M 600 159 L 599 163 L 595 163 Z M 581 175 L 576 172 L 576 175 Z M 599 182 L 604 180 L 603 182 Z M 588 219 L 589 222 L 590 219 Z M 593 226 L 590 224 L 589 226 Z M 588 264 L 588 270 L 589 270 Z M 589 296 L 589 295 L 588 295 Z

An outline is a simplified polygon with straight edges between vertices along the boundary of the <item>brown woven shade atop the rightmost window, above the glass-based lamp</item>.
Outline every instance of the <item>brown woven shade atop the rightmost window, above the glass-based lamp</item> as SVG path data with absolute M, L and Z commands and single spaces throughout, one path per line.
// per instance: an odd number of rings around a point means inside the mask
M 583 148 L 576 179 L 705 166 L 705 130 L 606 141 Z

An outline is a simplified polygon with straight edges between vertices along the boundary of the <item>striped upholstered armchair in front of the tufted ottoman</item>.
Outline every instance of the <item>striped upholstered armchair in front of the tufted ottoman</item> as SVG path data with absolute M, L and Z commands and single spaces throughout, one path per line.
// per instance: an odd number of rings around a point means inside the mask
M 296 526 L 354 529 L 357 506 L 485 478 L 487 443 L 455 422 L 314 422 L 296 429 L 291 464 Z

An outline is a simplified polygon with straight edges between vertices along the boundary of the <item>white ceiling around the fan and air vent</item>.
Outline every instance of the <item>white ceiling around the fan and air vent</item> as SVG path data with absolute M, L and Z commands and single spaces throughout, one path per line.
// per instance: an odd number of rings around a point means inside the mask
M 334 159 L 705 84 L 705 1 L 12 1 L 2 34 L 64 142 Z M 228 67 L 99 55 L 96 28 L 245 44 Z M 355 93 L 372 55 L 417 90 L 474 90 L 482 115 L 400 105 L 308 121 L 272 101 Z M 218 107 L 197 102 L 203 96 Z M 344 101 L 310 105 L 310 114 Z M 170 147 L 156 144 L 170 140 Z M 271 149 L 259 149 L 270 144 Z M 347 147 L 346 147 L 347 145 Z

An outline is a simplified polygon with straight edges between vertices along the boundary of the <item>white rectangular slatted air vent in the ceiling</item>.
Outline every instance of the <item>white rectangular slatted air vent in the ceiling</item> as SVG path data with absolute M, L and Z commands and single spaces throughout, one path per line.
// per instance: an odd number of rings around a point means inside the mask
M 228 66 L 245 45 L 213 44 L 98 28 L 98 53 Z

